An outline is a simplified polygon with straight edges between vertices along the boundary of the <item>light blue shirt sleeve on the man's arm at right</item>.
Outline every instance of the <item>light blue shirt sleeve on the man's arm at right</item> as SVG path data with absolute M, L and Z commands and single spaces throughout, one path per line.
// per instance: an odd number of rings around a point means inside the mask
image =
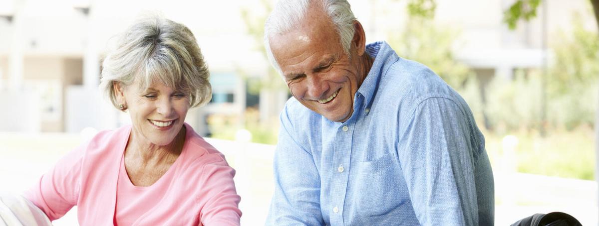
M 420 102 L 398 144 L 398 157 L 421 225 L 479 225 L 473 122 L 453 102 Z

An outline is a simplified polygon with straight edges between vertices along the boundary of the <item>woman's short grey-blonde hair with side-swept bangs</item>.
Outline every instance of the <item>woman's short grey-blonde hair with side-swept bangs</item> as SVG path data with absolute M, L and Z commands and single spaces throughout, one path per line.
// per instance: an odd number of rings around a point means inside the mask
M 114 83 L 148 88 L 162 83 L 189 95 L 191 107 L 212 97 L 210 73 L 193 33 L 161 16 L 145 16 L 117 36 L 102 63 L 100 87 L 119 109 Z

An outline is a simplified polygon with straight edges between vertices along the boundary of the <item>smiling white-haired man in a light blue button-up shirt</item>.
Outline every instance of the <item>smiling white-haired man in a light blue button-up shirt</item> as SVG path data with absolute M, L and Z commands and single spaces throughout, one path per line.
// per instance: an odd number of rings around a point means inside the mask
M 452 88 L 344 0 L 282 0 L 267 52 L 295 98 L 280 116 L 267 225 L 493 225 L 485 140 Z

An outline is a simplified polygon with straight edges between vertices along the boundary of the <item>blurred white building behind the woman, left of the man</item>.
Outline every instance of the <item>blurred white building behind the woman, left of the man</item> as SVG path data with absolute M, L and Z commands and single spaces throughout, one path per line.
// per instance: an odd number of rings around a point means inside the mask
M 211 71 L 214 96 L 187 122 L 207 133 L 207 114 L 243 115 L 240 76 L 259 77 L 267 65 L 251 51 L 240 9 L 245 2 L 0 1 L 0 115 L 2 131 L 80 132 L 128 123 L 98 90 L 101 60 L 111 37 L 142 13 L 188 26 Z

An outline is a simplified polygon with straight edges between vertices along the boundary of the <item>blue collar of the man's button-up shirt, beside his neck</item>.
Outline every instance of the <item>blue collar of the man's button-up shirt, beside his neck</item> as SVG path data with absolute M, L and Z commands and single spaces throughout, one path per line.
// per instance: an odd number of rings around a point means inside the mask
M 370 57 L 374 57 L 373 66 L 370 68 L 368 75 L 362 81 L 362 85 L 358 88 L 357 93 L 364 96 L 365 107 L 370 108 L 374 94 L 379 87 L 380 77 L 382 76 L 383 66 L 387 59 L 395 54 L 395 51 L 385 41 L 373 42 L 366 45 L 366 53 Z

